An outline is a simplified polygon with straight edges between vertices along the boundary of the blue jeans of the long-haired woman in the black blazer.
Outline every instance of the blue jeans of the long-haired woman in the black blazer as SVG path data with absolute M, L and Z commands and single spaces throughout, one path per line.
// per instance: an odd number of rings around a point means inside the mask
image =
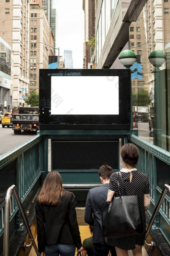
M 45 245 L 45 256 L 74 256 L 75 244 Z

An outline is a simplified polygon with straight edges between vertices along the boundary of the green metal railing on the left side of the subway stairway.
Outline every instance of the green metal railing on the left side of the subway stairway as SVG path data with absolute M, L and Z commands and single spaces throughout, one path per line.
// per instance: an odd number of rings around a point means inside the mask
M 44 171 L 44 140 L 36 135 L 13 150 L 0 156 L 0 255 L 4 229 L 4 199 L 11 185 L 15 185 L 26 211 L 41 183 Z M 20 215 L 13 195 L 10 198 L 9 239 L 19 229 Z

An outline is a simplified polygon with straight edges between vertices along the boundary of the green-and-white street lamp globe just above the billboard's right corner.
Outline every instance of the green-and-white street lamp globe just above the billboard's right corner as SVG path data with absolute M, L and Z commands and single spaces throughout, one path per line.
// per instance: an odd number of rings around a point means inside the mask
M 134 62 L 136 61 L 135 53 L 131 50 L 124 50 L 120 53 L 118 59 L 120 60 L 121 64 L 129 69 Z

